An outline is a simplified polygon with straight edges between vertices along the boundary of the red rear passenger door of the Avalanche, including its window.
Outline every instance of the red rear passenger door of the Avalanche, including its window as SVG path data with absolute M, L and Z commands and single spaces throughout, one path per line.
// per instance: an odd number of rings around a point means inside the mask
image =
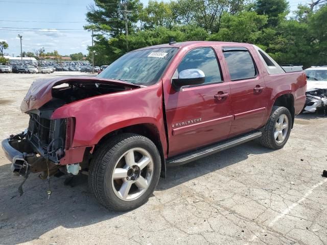
M 266 88 L 263 76 L 246 47 L 223 47 L 224 65 L 230 81 L 232 121 L 230 137 L 263 126 L 266 113 Z

